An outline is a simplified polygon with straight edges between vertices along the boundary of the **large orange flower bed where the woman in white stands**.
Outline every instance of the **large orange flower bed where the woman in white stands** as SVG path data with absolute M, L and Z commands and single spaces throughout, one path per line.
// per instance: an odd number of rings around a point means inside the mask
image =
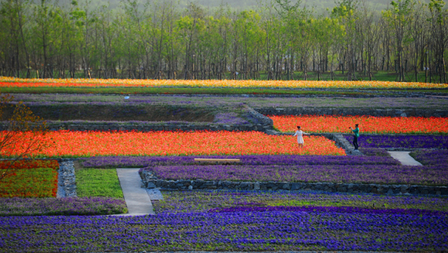
M 51 148 L 33 155 L 47 158 L 94 155 L 345 155 L 334 141 L 323 136 L 304 136 L 304 150 L 299 153 L 296 137 L 270 136 L 258 131 L 64 130 L 45 135 L 48 141 L 51 138 L 55 141 Z

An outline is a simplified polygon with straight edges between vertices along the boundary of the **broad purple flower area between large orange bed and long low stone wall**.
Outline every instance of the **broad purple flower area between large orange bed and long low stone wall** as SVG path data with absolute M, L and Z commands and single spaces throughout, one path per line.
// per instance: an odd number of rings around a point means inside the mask
M 367 150 L 373 156 L 98 156 L 83 158 L 81 164 L 84 167 L 143 167 L 140 172 L 143 170 L 153 171 L 157 177 L 163 180 L 448 184 L 448 168 L 446 166 L 401 166 L 398 160 L 386 156 L 388 154 L 384 153 L 384 150 Z M 231 165 L 200 164 L 195 163 L 194 158 L 236 158 L 240 159 L 241 163 Z

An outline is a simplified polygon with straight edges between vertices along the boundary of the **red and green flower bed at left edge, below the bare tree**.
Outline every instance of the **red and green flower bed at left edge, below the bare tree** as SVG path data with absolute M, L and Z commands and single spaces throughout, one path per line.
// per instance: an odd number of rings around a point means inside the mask
M 0 161 L 0 174 L 8 173 L 0 181 L 0 198 L 4 197 L 55 197 L 57 193 L 56 160 L 19 160 L 13 163 Z

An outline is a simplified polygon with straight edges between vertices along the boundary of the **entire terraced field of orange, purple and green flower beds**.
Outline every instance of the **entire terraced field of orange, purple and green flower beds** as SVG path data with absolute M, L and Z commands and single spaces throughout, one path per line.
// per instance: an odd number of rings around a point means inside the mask
M 126 127 L 145 122 L 193 122 L 193 116 L 171 118 L 183 114 L 184 107 L 192 115 L 210 113 L 207 120 L 197 120 L 202 127 L 260 123 L 248 107 L 413 108 L 420 113 L 427 109 L 445 110 L 448 105 L 443 98 L 394 97 L 402 92 L 446 93 L 448 84 L 384 81 L 0 77 L 0 88 L 21 93 L 14 95 L 16 100 L 23 100 L 37 114 L 52 115 L 45 118 L 54 120 L 50 123 L 86 124 L 89 128 L 93 125 L 92 129 L 108 129 L 117 122 Z M 266 90 L 266 94 L 295 95 L 251 95 L 265 94 Z M 196 95 L 144 94 L 184 92 Z M 332 92 L 348 96 L 335 98 Z M 123 95 L 68 93 L 144 95 L 129 95 L 125 99 Z M 237 93 L 244 95 L 197 95 Z M 329 96 L 298 96 L 306 93 Z M 361 96 L 352 98 L 350 94 Z M 371 94 L 374 98 L 369 97 Z M 162 112 L 157 109 L 161 107 L 171 109 Z M 95 114 L 91 113 L 92 108 L 100 109 Z M 106 111 L 112 116 L 105 118 L 101 112 Z M 153 111 L 166 118 L 156 119 L 149 114 Z M 117 117 L 120 113 L 127 118 Z M 135 115 L 142 117 L 137 119 Z M 132 204 L 122 197 L 126 192 L 121 188 L 117 167 L 140 168 L 140 173 L 151 171 L 159 180 L 362 183 L 366 187 L 417 184 L 423 188 L 448 185 L 448 118 L 270 118 L 279 131 L 294 132 L 299 125 L 304 132 L 343 133 L 348 141 L 352 141 L 348 127 L 359 123 L 360 151 L 364 155 L 345 155 L 343 148 L 323 136 L 304 136 L 304 149 L 299 151 L 294 136 L 258 131 L 50 131 L 44 136 L 45 141 L 52 143 L 50 147 L 32 155 L 80 158 L 74 161 L 77 197 L 55 198 L 59 167 L 56 160 L 27 160 L 14 165 L 15 174 L 0 181 L 0 253 L 446 251 L 448 199 L 430 195 L 445 194 L 443 190 L 418 196 L 395 196 L 395 190 L 385 195 L 304 190 L 164 190 L 162 200 L 152 201 L 154 216 L 106 216 L 126 213 L 128 207 L 132 211 Z M 98 123 L 101 127 L 96 128 Z M 410 155 L 423 166 L 403 166 L 384 150 L 389 147 L 440 150 L 414 151 Z M 20 152 L 21 148 L 16 146 L 11 151 Z M 0 151 L 0 157 L 4 158 L 7 152 Z M 197 163 L 194 158 L 236 158 L 241 163 Z M 0 161 L 0 173 L 6 167 L 8 161 Z M 137 173 L 135 176 L 138 180 Z

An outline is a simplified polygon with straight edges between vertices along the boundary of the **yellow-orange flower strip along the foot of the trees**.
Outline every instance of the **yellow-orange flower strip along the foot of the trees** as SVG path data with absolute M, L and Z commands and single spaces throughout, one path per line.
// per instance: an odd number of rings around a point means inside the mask
M 388 81 L 255 81 L 153 79 L 25 79 L 0 77 L 1 87 L 203 87 L 203 88 L 448 88 L 440 83 Z

